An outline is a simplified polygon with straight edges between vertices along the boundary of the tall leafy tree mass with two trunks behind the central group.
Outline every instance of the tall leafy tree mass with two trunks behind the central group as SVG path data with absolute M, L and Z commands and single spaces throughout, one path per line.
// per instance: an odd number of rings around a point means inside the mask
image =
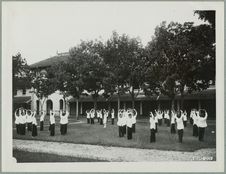
M 112 75 L 111 87 L 118 94 L 118 109 L 120 108 L 120 95 L 129 92 L 132 98 L 132 107 L 136 96 L 135 90 L 140 90 L 143 82 L 142 70 L 142 45 L 139 39 L 130 38 L 123 34 L 113 32 L 108 39 L 103 52 L 103 58 Z M 113 90 L 111 90 L 114 92 Z

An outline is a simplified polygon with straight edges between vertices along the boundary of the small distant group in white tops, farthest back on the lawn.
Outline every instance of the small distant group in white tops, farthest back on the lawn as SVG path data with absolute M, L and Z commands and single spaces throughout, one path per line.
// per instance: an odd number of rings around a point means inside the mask
M 95 109 L 92 108 L 90 110 L 86 110 L 86 118 L 87 118 L 87 124 L 94 124 L 95 123 L 95 118 L 97 118 L 97 122 L 100 125 L 103 125 L 104 128 L 107 127 L 107 120 L 111 117 L 111 124 L 114 125 L 114 119 L 115 119 L 115 110 L 106 110 L 106 109 L 100 109 L 96 110 L 95 114 Z

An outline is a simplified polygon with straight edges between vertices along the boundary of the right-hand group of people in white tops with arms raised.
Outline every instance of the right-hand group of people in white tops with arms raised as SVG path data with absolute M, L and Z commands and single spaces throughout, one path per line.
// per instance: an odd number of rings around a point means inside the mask
M 183 141 L 183 131 L 184 127 L 187 126 L 187 113 L 186 111 L 171 111 L 171 118 L 169 116 L 169 111 L 155 111 L 155 114 L 150 112 L 150 142 L 156 141 L 156 133 L 158 132 L 158 125 L 161 125 L 162 119 L 164 119 L 167 126 L 170 123 L 170 132 L 171 134 L 176 133 L 176 125 L 177 125 L 177 133 L 179 142 L 182 143 Z M 203 141 L 204 139 L 204 132 L 205 127 L 207 127 L 207 112 L 204 109 L 199 111 L 193 109 L 191 110 L 190 121 L 193 124 L 193 136 L 199 137 L 199 141 Z

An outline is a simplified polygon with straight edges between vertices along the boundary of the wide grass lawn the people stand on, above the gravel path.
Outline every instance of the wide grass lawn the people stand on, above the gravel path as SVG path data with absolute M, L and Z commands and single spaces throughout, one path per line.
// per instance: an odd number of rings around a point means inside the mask
M 38 129 L 38 136 L 35 138 L 31 137 L 30 132 L 26 133 L 25 136 L 17 135 L 16 130 L 14 129 L 13 138 L 173 151 L 195 151 L 201 148 L 216 147 L 215 121 L 208 121 L 204 142 L 200 142 L 198 141 L 198 138 L 192 136 L 192 125 L 188 123 L 187 127 L 184 129 L 182 144 L 178 143 L 177 134 L 171 134 L 170 128 L 165 124 L 158 126 L 156 143 L 150 143 L 150 129 L 147 119 L 140 119 L 137 121 L 136 133 L 133 134 L 132 140 L 127 140 L 127 137 L 119 138 L 118 126 L 116 124 L 111 125 L 110 120 L 107 128 L 103 128 L 103 125 L 100 125 L 97 122 L 95 122 L 94 125 L 86 124 L 84 118 L 80 121 L 83 121 L 83 123 L 75 124 L 75 120 L 71 119 L 71 124 L 68 125 L 68 133 L 64 136 L 60 135 L 59 122 L 57 121 L 54 137 L 50 137 L 48 126 L 46 126 L 44 131 L 40 132 Z M 48 121 L 46 122 L 46 125 L 48 125 Z M 212 131 L 215 133 L 212 133 Z

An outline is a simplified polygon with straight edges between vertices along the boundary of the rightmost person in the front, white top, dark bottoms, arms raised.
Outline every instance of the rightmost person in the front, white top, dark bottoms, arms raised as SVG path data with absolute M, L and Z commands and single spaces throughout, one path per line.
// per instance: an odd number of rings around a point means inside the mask
M 208 114 L 206 110 L 201 109 L 199 110 L 199 117 L 198 117 L 198 125 L 199 125 L 199 141 L 204 140 L 205 128 L 207 127 L 207 120 Z

